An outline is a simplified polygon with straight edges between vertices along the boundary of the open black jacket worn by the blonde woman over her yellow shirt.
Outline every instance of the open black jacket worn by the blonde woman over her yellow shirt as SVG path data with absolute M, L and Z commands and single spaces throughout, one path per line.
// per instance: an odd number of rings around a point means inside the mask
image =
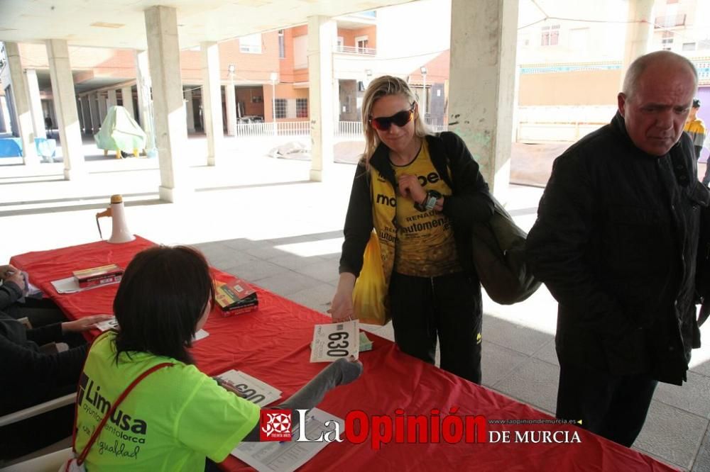
M 493 201 L 488 194 L 488 184 L 479 172 L 479 164 L 476 164 L 460 137 L 444 132 L 427 136 L 426 139 L 437 173 L 453 192 L 452 196 L 444 198 L 442 211 L 452 220 L 459 263 L 469 274 L 476 274 L 471 260 L 471 227 L 476 222 L 488 221 L 493 215 Z M 451 169 L 451 176 L 447 172 L 447 164 Z M 397 188 L 394 169 L 389 162 L 389 148 L 386 145 L 381 143 L 372 155 L 370 165 Z M 345 241 L 340 258 L 340 273 L 360 275 L 363 254 L 373 228 L 370 195 L 369 173 L 361 162 L 355 170 L 345 217 Z

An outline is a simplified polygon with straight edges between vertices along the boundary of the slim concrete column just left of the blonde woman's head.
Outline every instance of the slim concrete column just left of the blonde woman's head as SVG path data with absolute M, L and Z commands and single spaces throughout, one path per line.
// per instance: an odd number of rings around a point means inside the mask
M 335 21 L 327 16 L 308 17 L 308 108 L 310 111 L 310 179 L 322 181 L 333 165 L 333 45 L 337 40 Z

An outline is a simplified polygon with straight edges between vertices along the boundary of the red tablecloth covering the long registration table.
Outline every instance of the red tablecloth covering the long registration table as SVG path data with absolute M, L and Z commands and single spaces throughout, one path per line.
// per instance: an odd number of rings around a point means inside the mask
M 11 259 L 11 264 L 28 271 L 30 281 L 53 298 L 70 318 L 111 313 L 116 285 L 67 295 L 58 295 L 50 281 L 70 276 L 73 270 L 116 263 L 126 266 L 136 252 L 153 245 L 136 237 L 133 242 L 111 245 L 94 242 L 43 252 L 29 252 Z M 227 275 L 215 271 L 217 278 Z M 195 343 L 192 352 L 197 366 L 209 375 L 238 369 L 260 378 L 291 395 L 323 364 L 311 364 L 309 343 L 315 323 L 328 322 L 324 315 L 258 288 L 259 309 L 252 313 L 222 318 L 217 311 L 204 330 L 209 337 Z M 550 419 L 486 388 L 474 385 L 401 353 L 392 342 L 368 335 L 373 350 L 361 353 L 364 374 L 349 386 L 329 393 L 319 408 L 344 418 L 351 410 L 368 415 L 390 415 L 401 408 L 405 415 L 429 415 L 432 409 L 442 418 L 451 408 L 458 415 L 484 415 L 488 432 L 508 430 L 511 442 L 466 444 L 383 444 L 374 450 L 369 441 L 329 444 L 302 467 L 302 471 L 533 471 L 603 470 L 668 471 L 663 463 L 570 425 L 500 425 L 491 420 Z M 577 432 L 580 443 L 515 442 L 515 432 L 539 438 L 542 431 Z M 530 433 L 534 432 L 534 433 Z M 560 436 L 558 436 L 560 437 Z M 229 456 L 222 464 L 231 471 L 251 470 Z

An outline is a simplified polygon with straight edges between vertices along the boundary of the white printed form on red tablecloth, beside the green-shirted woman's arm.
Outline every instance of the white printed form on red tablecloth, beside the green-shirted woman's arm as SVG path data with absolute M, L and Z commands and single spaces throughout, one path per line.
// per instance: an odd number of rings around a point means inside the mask
M 296 413 L 294 420 L 297 421 L 297 418 Z M 305 418 L 305 436 L 308 439 L 317 439 L 323 432 L 332 431 L 335 427 L 332 423 L 326 427 L 325 422 L 327 421 L 337 422 L 340 425 L 341 434 L 345 430 L 345 422 L 342 418 L 335 417 L 320 408 L 313 408 Z M 293 437 L 290 442 L 242 442 L 231 451 L 231 455 L 248 463 L 259 472 L 291 472 L 310 461 L 313 456 L 330 444 L 326 441 L 297 442 L 295 439 L 300 434 L 299 425 L 294 425 L 292 429 Z

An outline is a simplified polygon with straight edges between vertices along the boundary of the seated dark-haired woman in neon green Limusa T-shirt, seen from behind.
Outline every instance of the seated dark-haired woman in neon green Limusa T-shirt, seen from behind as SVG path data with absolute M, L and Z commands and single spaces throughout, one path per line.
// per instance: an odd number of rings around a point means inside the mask
M 89 449 L 89 471 L 197 471 L 224 461 L 239 442 L 258 440 L 258 405 L 197 370 L 187 350 L 213 300 L 209 266 L 190 247 L 151 247 L 126 267 L 114 299 L 120 329 L 94 341 L 82 373 L 77 454 L 134 379 L 157 364 L 173 365 L 125 397 Z M 313 408 L 361 371 L 359 362 L 340 359 L 277 408 Z

